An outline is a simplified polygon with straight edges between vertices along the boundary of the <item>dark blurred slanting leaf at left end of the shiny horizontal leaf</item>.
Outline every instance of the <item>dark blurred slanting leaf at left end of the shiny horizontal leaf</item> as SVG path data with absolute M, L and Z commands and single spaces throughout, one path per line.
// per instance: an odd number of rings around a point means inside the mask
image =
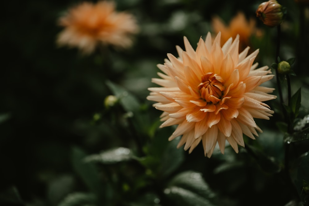
M 73 147 L 71 151 L 73 168 L 90 191 L 94 194 L 102 194 L 103 191 L 100 185 L 98 172 L 93 163 L 83 161 L 86 156 L 83 150 L 78 147 Z

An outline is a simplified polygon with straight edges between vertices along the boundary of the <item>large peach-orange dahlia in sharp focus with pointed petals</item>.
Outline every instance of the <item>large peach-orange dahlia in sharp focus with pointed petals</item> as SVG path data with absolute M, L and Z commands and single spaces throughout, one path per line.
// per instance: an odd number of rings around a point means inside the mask
M 178 58 L 167 54 L 164 65 L 158 65 L 161 78 L 152 79 L 161 87 L 148 88 L 147 97 L 163 111 L 160 127 L 178 124 L 169 140 L 182 135 L 177 147 L 185 144 L 189 153 L 202 141 L 207 157 L 217 142 L 222 153 L 226 140 L 238 153 L 238 145 L 245 146 L 243 134 L 255 139 L 261 130 L 253 118 L 269 119 L 273 111 L 262 101 L 276 98 L 268 94 L 273 88 L 260 86 L 274 75 L 268 66 L 256 69 L 259 50 L 247 56 L 247 47 L 239 54 L 239 36 L 222 48 L 220 39 L 219 32 L 212 43 L 208 33 L 195 51 L 184 37 L 186 51 L 176 46 Z

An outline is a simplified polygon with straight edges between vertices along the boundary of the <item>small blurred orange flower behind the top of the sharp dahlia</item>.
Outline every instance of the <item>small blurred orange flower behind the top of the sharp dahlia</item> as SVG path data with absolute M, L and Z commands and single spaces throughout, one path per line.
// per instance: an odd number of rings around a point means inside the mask
M 255 19 L 246 19 L 242 12 L 231 20 L 229 26 L 226 26 L 222 19 L 218 16 L 212 18 L 212 27 L 216 34 L 221 32 L 221 42 L 226 42 L 230 37 L 235 38 L 239 34 L 239 50 L 242 51 L 250 46 L 250 37 L 252 35 L 261 36 L 261 31 L 257 30 Z M 222 45 L 221 45 L 222 46 Z

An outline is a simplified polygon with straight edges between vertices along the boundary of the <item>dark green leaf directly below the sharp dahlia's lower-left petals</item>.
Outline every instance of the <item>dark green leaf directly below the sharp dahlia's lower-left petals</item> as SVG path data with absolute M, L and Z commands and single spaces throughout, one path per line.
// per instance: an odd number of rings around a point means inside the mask
M 177 149 L 180 137 L 170 141 L 165 149 L 162 158 L 161 166 L 159 167 L 159 175 L 167 177 L 174 172 L 184 161 L 184 149 Z

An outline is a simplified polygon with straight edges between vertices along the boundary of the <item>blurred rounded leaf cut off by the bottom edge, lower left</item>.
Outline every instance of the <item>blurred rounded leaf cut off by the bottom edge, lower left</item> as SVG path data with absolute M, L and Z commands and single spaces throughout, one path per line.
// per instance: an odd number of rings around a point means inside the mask
M 76 192 L 66 196 L 58 206 L 95 206 L 95 195 L 91 193 Z

